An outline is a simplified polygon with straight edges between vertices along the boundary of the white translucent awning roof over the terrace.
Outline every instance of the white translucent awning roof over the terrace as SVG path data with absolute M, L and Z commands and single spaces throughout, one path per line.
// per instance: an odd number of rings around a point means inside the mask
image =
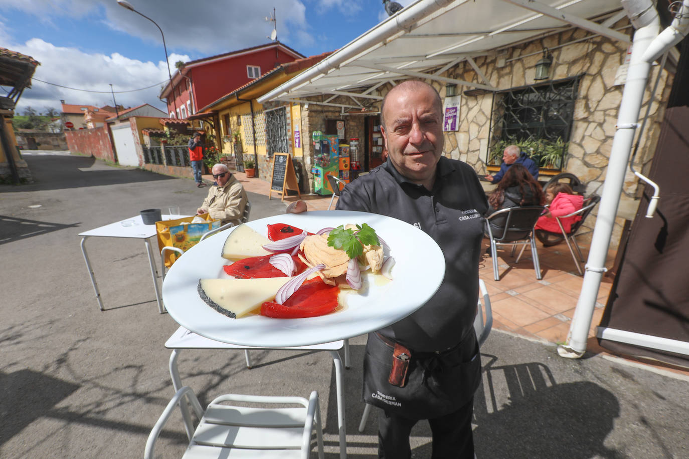
M 350 96 L 352 103 L 327 105 L 358 108 L 380 99 L 367 94 L 376 87 L 410 77 L 508 89 L 486 81 L 473 58 L 572 27 L 630 43 L 627 30 L 610 28 L 625 16 L 619 0 L 419 0 L 258 102 L 329 94 L 330 100 Z M 440 76 L 461 61 L 474 68 L 475 81 Z

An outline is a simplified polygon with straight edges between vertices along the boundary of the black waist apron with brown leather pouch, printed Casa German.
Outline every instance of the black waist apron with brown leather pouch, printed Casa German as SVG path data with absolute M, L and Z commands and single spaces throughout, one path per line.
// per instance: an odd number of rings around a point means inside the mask
M 364 402 L 391 414 L 430 419 L 457 411 L 481 381 L 481 360 L 473 330 L 444 352 L 417 352 L 369 333 L 364 354 Z

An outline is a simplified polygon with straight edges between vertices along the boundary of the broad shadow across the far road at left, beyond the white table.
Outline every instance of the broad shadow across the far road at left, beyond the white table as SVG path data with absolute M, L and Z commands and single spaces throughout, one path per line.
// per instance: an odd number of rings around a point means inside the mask
M 21 186 L 0 185 L 0 193 L 175 179 L 142 169 L 113 167 L 88 156 L 25 156 L 24 159 L 31 170 L 34 183 Z M 56 171 L 59 173 L 55 173 Z

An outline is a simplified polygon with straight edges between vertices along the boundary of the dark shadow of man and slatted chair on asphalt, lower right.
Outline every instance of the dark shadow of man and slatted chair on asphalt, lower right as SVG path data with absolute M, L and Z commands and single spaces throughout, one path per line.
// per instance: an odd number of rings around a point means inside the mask
M 542 363 L 493 367 L 497 357 L 486 356 L 491 361 L 474 401 L 480 456 L 626 458 L 604 445 L 620 413 L 614 394 L 590 381 L 557 384 Z M 496 396 L 501 386 L 506 395 Z

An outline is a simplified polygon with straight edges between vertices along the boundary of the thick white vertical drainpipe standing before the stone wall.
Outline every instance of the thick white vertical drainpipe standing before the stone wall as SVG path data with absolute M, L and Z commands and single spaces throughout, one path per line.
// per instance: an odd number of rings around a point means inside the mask
M 613 224 L 615 223 L 619 196 L 624 184 L 627 162 L 629 161 L 635 131 L 638 127 L 639 111 L 644 97 L 644 89 L 646 88 L 650 66 L 655 59 L 686 36 L 689 28 L 689 0 L 683 1 L 676 19 L 672 21 L 672 25 L 661 34 L 659 34 L 660 25 L 657 14 L 650 15 L 653 16 L 652 19 L 648 19 L 650 23 L 639 28 L 634 35 L 632 58 L 627 81 L 624 85 L 624 92 L 622 93 L 622 102 L 619 106 L 617 131 L 613 139 L 613 149 L 610 152 L 610 162 L 608 162 L 608 173 L 606 174 L 599 213 L 593 231 L 588 261 L 586 262 L 584 284 L 582 285 L 582 292 L 579 294 L 577 308 L 569 328 L 567 343 L 559 345 L 557 348 L 560 356 L 570 359 L 577 359 L 586 351 L 588 329 L 593 318 L 593 309 L 595 308 L 601 278 L 606 271 L 606 255 L 610 245 L 610 237 L 613 233 Z M 631 14 L 630 18 L 635 19 Z M 652 204 L 655 207 L 655 201 Z M 650 213 L 652 209 L 648 209 L 648 211 Z

